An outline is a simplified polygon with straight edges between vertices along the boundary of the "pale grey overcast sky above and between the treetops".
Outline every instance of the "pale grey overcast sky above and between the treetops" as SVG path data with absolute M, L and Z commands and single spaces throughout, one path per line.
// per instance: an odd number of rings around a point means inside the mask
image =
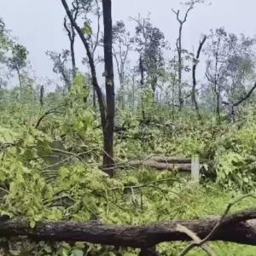
M 138 13 L 151 13 L 155 26 L 165 33 L 172 44 L 177 38 L 177 20 L 172 8 L 183 8 L 180 0 L 113 0 L 113 21 L 128 20 Z M 256 34 L 255 0 L 212 0 L 212 4 L 198 5 L 189 15 L 184 26 L 184 46 L 197 47 L 201 33 L 224 26 L 228 32 Z M 61 51 L 68 48 L 62 29 L 64 10 L 61 0 L 1 0 L 0 16 L 12 35 L 29 50 L 29 59 L 39 78 L 55 78 L 52 63 L 46 50 Z M 132 26 L 130 21 L 129 26 Z M 78 39 L 79 40 L 79 39 Z M 77 55 L 84 56 L 84 49 L 77 44 Z

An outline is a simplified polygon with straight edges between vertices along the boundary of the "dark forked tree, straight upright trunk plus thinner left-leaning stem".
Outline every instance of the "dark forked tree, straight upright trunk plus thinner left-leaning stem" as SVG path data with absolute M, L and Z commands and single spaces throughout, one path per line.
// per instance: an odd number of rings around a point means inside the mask
M 84 37 L 84 33 L 73 19 L 73 15 L 68 8 L 67 1 L 61 0 L 66 10 L 67 16 L 72 26 L 76 29 L 81 38 L 90 65 L 90 74 L 92 84 L 96 90 L 98 97 L 103 133 L 103 171 L 113 176 L 113 123 L 114 123 L 114 84 L 113 84 L 113 54 L 112 54 L 112 16 L 111 16 L 111 0 L 103 0 L 103 20 L 104 20 L 104 57 L 105 57 L 105 75 L 106 75 L 106 100 L 105 106 L 104 96 L 96 78 L 96 67 L 90 44 Z

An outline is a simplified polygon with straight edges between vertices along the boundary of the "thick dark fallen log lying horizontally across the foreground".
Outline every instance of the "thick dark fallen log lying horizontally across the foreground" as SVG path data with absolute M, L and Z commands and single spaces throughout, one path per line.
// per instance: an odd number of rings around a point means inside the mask
M 143 248 L 154 247 L 164 241 L 190 241 L 189 236 L 177 231 L 177 224 L 183 225 L 203 239 L 212 231 L 218 219 L 177 220 L 140 226 L 43 221 L 32 229 L 26 218 L 14 218 L 0 220 L 0 236 L 27 236 L 37 241 L 86 241 L 102 245 Z M 223 219 L 211 241 L 256 245 L 255 219 L 256 209 L 230 214 Z

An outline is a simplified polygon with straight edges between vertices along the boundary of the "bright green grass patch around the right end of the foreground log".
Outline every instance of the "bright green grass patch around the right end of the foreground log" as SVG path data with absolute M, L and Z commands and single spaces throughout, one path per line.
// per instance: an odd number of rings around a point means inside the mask
M 204 218 L 209 216 L 222 215 L 230 201 L 241 196 L 240 193 L 233 191 L 225 192 L 220 189 L 217 184 L 207 186 L 199 185 L 198 187 L 187 186 L 181 192 L 180 197 L 183 199 L 180 207 L 185 207 L 186 211 L 181 211 L 176 218 Z M 255 207 L 256 200 L 246 198 L 231 208 L 231 212 L 241 211 L 247 208 Z M 176 256 L 188 243 L 164 243 L 158 247 L 161 255 Z M 254 256 L 256 255 L 256 247 L 239 245 L 231 242 L 214 241 L 208 242 L 215 253 L 220 256 Z M 207 255 L 201 249 L 195 248 L 188 255 L 203 256 Z

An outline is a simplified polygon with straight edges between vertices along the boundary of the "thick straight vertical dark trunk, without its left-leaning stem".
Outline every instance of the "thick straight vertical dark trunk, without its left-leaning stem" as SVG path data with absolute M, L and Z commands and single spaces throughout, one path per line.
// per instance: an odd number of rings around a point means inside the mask
M 104 155 L 103 168 L 113 176 L 113 125 L 114 125 L 114 84 L 113 84 L 113 32 L 112 32 L 112 3 L 111 0 L 102 1 L 104 22 L 104 61 L 106 75 L 106 125 L 104 127 Z M 106 169 L 106 170 L 107 170 Z

